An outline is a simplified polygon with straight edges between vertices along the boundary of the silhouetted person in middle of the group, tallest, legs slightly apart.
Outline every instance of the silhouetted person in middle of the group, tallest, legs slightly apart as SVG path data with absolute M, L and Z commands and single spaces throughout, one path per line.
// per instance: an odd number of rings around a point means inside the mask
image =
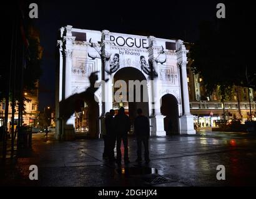
M 128 139 L 127 133 L 130 131 L 130 119 L 124 113 L 124 108 L 121 107 L 118 111 L 118 114 L 114 118 L 115 121 L 115 129 L 117 134 L 117 164 L 121 164 L 122 154 L 121 154 L 121 141 L 124 144 L 124 163 L 128 164 Z

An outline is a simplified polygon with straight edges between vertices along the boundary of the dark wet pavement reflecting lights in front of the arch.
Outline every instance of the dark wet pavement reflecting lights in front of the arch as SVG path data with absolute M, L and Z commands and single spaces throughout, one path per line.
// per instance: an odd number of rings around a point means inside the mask
M 33 134 L 32 150 L 1 162 L 0 185 L 256 185 L 255 134 L 199 131 L 195 136 L 150 137 L 149 164 L 135 162 L 134 137 L 129 137 L 127 165 L 109 164 L 102 159 L 103 149 L 102 139 L 59 142 L 53 133 L 47 140 L 44 134 Z M 29 180 L 30 165 L 37 165 L 39 180 Z M 217 180 L 217 165 L 225 166 L 226 180 Z

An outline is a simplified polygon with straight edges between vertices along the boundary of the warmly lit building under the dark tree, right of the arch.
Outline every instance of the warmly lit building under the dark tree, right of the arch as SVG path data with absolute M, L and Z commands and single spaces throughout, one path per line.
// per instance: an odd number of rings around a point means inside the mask
M 199 127 L 215 127 L 220 123 L 227 123 L 233 119 L 241 119 L 242 123 L 250 120 L 250 106 L 252 120 L 255 120 L 255 96 L 252 88 L 233 86 L 230 100 L 220 100 L 218 90 L 207 96 L 204 79 L 192 73 L 190 62 L 187 65 L 187 82 L 189 87 L 190 113 L 194 115 L 194 124 Z M 250 103 L 249 103 L 250 99 Z M 225 113 L 225 114 L 224 114 Z

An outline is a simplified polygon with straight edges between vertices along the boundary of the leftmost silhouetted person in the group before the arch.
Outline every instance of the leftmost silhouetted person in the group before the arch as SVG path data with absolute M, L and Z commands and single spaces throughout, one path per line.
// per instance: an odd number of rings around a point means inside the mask
M 108 137 L 108 146 L 109 146 L 109 161 L 113 162 L 115 160 L 114 149 L 116 146 L 116 131 L 114 123 L 115 111 L 111 109 L 109 115 L 106 116 L 105 125 L 106 125 L 106 134 Z

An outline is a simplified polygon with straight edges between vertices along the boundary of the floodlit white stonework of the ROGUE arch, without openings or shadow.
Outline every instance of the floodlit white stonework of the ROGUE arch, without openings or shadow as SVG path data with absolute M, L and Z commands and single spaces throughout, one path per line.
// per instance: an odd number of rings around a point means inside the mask
M 73 114 L 63 122 L 60 101 L 85 91 L 89 86 L 89 75 L 99 71 L 100 80 L 109 79 L 105 86 L 100 86 L 95 93 L 99 99 L 98 115 L 101 116 L 113 107 L 113 77 L 124 67 L 137 68 L 147 79 L 147 89 L 151 96 L 149 118 L 152 136 L 165 136 L 165 116 L 160 113 L 160 99 L 166 94 L 173 95 L 177 99 L 179 109 L 177 133 L 195 134 L 187 86 L 188 51 L 182 40 L 119 34 L 109 30 L 76 29 L 71 25 L 61 27 L 59 34 L 57 40 L 59 61 L 56 72 L 57 138 L 72 137 L 76 117 Z M 96 128 L 95 131 L 100 131 L 100 128 Z

